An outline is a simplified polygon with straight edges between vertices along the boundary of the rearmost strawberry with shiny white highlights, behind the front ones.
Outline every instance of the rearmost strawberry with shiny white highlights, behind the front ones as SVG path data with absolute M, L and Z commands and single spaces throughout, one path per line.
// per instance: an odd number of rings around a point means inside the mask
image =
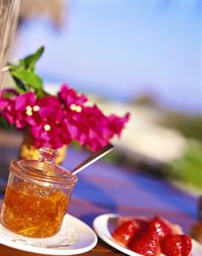
M 154 217 L 151 220 L 149 229 L 155 229 L 157 231 L 159 241 L 172 233 L 172 229 L 169 224 L 160 217 Z

